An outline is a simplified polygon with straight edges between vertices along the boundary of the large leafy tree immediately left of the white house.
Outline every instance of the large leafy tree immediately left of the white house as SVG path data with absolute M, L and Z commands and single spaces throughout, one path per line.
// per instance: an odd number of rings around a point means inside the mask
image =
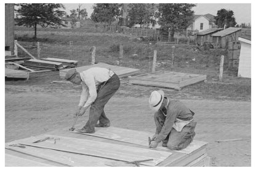
M 195 4 L 159 4 L 155 16 L 164 31 L 170 31 L 170 41 L 174 41 L 174 33 L 191 25 Z

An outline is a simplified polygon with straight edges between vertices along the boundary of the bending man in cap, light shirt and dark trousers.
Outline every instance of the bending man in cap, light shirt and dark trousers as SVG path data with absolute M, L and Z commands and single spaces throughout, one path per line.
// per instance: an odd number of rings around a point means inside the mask
M 77 85 L 82 83 L 76 116 L 84 115 L 90 106 L 89 120 L 82 129 L 77 130 L 80 133 L 94 133 L 95 126 L 109 127 L 110 120 L 105 115 L 104 107 L 120 86 L 118 75 L 106 68 L 90 68 L 83 72 L 70 69 L 65 79 Z

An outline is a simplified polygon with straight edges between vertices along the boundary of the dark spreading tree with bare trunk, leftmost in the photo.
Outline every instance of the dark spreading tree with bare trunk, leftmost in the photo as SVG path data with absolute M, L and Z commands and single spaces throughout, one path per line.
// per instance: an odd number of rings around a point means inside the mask
M 62 25 L 61 17 L 66 14 L 62 4 L 18 4 L 18 17 L 15 18 L 17 25 L 34 28 L 34 39 L 36 39 L 37 25 L 42 27 L 52 26 L 58 28 Z

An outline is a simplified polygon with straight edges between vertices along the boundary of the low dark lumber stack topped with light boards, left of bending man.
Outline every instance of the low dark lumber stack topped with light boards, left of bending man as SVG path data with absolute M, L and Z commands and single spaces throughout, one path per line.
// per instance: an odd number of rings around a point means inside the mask
M 23 65 L 28 68 L 50 69 L 52 71 L 58 71 L 63 68 L 62 63 L 35 59 L 25 60 Z

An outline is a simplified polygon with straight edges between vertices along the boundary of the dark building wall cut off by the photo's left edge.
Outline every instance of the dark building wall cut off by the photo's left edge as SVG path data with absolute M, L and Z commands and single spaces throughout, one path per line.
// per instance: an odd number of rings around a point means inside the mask
M 5 49 L 7 55 L 14 53 L 14 4 L 5 4 L 6 6 L 6 43 Z

